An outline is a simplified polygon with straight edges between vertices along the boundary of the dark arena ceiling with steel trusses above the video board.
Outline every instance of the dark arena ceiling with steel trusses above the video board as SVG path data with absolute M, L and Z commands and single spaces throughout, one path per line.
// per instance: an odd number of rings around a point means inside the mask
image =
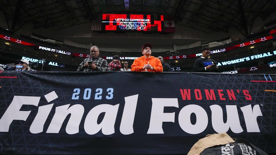
M 175 23 L 212 33 L 235 27 L 250 34 L 256 17 L 275 12 L 275 0 L 1 0 L 0 10 L 9 30 L 30 22 L 34 28 L 60 30 L 88 23 L 101 13 L 162 14 Z M 251 28 L 252 29 L 252 28 Z

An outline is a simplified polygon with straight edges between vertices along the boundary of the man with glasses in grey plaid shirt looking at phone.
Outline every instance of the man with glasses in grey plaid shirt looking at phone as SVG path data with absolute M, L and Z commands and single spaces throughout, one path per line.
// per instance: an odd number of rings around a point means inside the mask
M 108 63 L 99 57 L 99 47 L 90 48 L 90 57 L 83 60 L 77 71 L 109 71 Z

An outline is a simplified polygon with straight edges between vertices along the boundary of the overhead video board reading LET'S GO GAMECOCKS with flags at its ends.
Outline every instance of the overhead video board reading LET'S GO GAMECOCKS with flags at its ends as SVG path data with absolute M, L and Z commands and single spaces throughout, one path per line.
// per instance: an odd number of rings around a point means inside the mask
M 163 15 L 102 14 L 97 22 L 92 22 L 92 30 L 101 31 L 174 32 L 174 27 L 174 19 Z

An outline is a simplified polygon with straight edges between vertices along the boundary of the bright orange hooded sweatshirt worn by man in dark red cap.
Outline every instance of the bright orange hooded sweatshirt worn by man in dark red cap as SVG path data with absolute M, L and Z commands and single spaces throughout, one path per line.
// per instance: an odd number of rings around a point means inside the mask
M 153 70 L 147 69 L 147 71 L 153 71 L 153 72 L 163 71 L 161 61 L 154 56 L 150 56 L 147 59 L 145 58 L 145 56 L 141 56 L 140 58 L 135 59 L 133 64 L 131 65 L 131 71 L 137 71 L 137 72 L 146 71 L 145 69 L 143 69 L 145 64 L 150 64 L 153 67 Z

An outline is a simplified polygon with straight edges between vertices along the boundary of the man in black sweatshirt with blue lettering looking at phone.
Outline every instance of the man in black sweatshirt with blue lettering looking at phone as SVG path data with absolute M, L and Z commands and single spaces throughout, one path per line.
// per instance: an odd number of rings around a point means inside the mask
M 210 48 L 202 48 L 202 57 L 196 59 L 193 65 L 194 72 L 200 73 L 219 73 L 219 68 L 213 59 L 208 58 L 210 55 Z

